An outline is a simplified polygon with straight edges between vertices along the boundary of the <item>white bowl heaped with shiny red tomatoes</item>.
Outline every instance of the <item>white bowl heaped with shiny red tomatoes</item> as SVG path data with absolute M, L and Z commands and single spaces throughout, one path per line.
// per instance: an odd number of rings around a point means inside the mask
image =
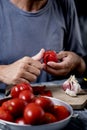
M 25 84 L 22 84 L 22 86 Z M 60 130 L 73 115 L 72 107 L 54 97 L 34 95 L 31 86 L 12 89 L 0 104 L 0 128 L 5 130 Z M 20 88 L 20 87 L 18 87 Z

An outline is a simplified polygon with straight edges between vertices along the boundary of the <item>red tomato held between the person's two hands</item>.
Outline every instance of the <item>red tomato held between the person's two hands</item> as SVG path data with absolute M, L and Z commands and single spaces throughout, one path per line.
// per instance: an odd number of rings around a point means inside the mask
M 44 53 L 43 62 L 47 64 L 49 61 L 58 62 L 57 54 L 53 50 L 47 50 Z

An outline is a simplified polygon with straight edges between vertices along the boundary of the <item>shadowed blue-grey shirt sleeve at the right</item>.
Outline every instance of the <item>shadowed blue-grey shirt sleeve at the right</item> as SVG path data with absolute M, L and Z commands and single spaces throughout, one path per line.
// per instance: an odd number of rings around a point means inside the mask
M 84 57 L 86 52 L 82 43 L 78 16 L 74 0 L 62 0 L 63 13 L 66 23 L 65 32 L 65 50 L 76 52 L 78 55 Z

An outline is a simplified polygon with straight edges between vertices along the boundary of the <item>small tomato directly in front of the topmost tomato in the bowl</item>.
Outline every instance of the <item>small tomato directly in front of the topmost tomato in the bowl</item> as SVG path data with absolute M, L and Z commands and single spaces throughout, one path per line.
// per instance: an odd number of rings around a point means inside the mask
M 19 94 L 19 98 L 28 103 L 31 102 L 34 99 L 34 97 L 34 94 L 30 92 L 30 90 L 24 90 Z

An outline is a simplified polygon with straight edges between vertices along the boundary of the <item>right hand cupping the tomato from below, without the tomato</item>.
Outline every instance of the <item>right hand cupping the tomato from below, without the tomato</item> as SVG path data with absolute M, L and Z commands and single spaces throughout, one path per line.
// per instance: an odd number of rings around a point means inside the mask
M 57 54 L 60 62 L 48 62 L 45 71 L 54 76 L 66 76 L 73 70 L 83 73 L 86 65 L 83 59 L 74 52 L 61 51 Z

